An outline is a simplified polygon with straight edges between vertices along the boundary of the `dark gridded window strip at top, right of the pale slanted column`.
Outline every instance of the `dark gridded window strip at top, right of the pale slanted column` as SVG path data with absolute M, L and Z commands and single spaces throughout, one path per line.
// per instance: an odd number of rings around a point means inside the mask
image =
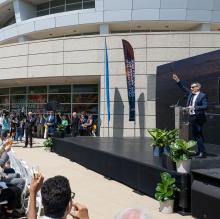
M 37 16 L 95 8 L 95 0 L 51 0 L 37 5 Z

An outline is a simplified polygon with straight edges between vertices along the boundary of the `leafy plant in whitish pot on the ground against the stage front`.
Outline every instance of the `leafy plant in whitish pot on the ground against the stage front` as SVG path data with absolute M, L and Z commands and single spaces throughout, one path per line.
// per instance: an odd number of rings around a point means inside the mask
M 176 179 L 169 173 L 163 172 L 160 177 L 161 182 L 157 184 L 155 198 L 160 202 L 159 211 L 170 214 L 173 213 L 175 193 L 179 189 L 176 186 Z

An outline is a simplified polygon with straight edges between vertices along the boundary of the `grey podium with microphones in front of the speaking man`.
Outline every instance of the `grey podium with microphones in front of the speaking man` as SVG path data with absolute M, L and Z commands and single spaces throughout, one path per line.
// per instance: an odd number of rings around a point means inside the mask
M 190 140 L 189 110 L 186 107 L 174 106 L 175 129 L 179 130 L 179 137 Z

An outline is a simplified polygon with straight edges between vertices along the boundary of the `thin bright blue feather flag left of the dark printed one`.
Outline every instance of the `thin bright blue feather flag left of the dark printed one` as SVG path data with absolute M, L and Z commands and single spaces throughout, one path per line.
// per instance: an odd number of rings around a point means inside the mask
M 108 126 L 110 122 L 110 96 L 109 96 L 109 65 L 108 65 L 108 48 L 105 42 L 105 93 L 106 93 L 106 106 L 108 114 Z

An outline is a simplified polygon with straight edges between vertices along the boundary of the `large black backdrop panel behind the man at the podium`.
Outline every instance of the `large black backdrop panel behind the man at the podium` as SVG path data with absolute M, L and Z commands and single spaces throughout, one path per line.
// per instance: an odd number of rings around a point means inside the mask
M 219 144 L 220 130 L 220 50 L 158 66 L 156 80 L 156 125 L 158 128 L 174 128 L 174 110 L 170 105 L 185 106 L 184 93 L 172 79 L 176 72 L 185 85 L 197 81 L 207 94 L 209 107 L 205 125 L 205 139 Z M 166 115 L 166 116 L 164 116 Z

